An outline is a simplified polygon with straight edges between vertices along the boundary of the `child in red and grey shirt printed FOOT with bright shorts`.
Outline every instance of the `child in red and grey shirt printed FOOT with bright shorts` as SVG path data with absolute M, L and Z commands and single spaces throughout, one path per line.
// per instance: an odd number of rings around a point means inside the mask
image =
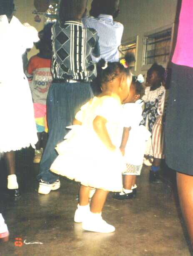
M 45 25 L 40 42 L 36 44 L 36 48 L 40 52 L 30 58 L 26 71 L 33 97 L 35 122 L 38 132 L 38 143 L 35 145 L 36 149 L 33 159 L 34 163 L 40 162 L 48 137 L 46 99 L 52 81 L 50 71 L 52 25 L 52 23 Z

